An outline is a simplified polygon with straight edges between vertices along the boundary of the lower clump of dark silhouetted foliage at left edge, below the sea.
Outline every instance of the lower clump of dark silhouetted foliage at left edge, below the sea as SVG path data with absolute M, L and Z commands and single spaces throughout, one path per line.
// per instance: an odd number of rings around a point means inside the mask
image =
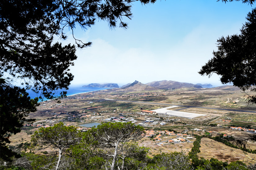
M 0 150 L 1 158 L 11 161 L 12 156 L 18 156 L 6 146 L 10 143 L 11 134 L 20 132 L 20 128 L 25 121 L 33 121 L 34 119 L 26 119 L 29 112 L 34 112 L 38 106 L 38 98 L 30 99 L 24 88 L 0 86 Z

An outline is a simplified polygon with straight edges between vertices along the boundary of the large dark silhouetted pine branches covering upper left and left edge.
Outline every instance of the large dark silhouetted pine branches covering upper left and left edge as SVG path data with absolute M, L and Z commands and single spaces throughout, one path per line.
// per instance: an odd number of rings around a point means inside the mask
M 155 0 L 135 0 L 141 4 Z M 131 19 L 134 0 L 2 0 L 0 3 L 0 92 L 1 92 L 1 148 L 2 155 L 8 133 L 17 133 L 20 122 L 29 112 L 35 111 L 38 99 L 30 100 L 24 95 L 31 89 L 39 99 L 59 99 L 66 91 L 74 76 L 69 67 L 74 65 L 75 45 L 56 42 L 65 40 L 66 28 L 72 33 L 76 27 L 86 30 L 97 19 L 105 20 L 110 28 L 127 28 L 124 18 Z M 74 37 L 78 48 L 91 45 Z M 20 84 L 17 85 L 17 82 Z M 14 85 L 15 84 L 15 85 Z M 20 88 L 24 85 L 24 89 Z M 18 87 L 16 87 L 18 86 Z M 8 98 L 6 94 L 15 94 Z M 5 100 L 5 101 L 4 101 Z M 20 110 L 10 109 L 9 103 L 23 105 Z M 20 103 L 18 103 L 20 102 Z M 34 105 L 33 107 L 31 105 Z M 15 108 L 15 107 L 14 107 Z M 2 120 L 14 118 L 10 128 Z M 11 120 L 11 119 L 9 119 Z M 16 124 L 15 124 L 16 123 Z M 7 153 L 7 152 L 6 152 Z M 10 158 L 10 155 L 5 158 Z

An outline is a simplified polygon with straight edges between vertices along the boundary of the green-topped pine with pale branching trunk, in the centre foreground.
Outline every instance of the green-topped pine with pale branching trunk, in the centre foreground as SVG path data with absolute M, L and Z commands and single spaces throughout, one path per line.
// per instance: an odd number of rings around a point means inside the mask
M 143 127 L 132 123 L 103 123 L 83 135 L 83 145 L 73 153 L 86 157 L 92 155 L 104 169 L 125 169 L 129 162 L 146 159 L 148 148 L 138 147 L 135 141 L 142 137 Z M 90 144 L 88 146 L 88 144 Z M 93 164 L 93 166 L 96 166 Z

